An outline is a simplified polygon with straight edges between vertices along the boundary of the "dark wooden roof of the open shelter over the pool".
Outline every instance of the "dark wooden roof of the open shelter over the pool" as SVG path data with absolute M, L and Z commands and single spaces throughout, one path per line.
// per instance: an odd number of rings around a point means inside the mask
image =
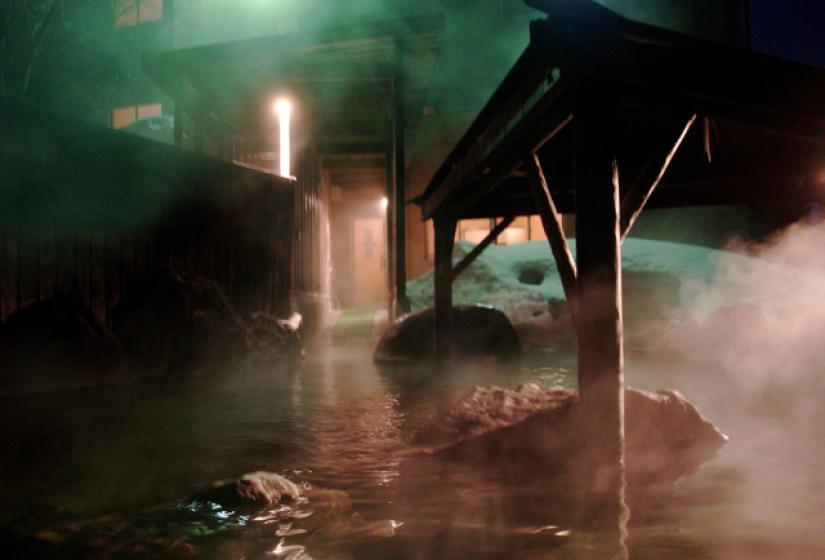
M 425 218 L 536 213 L 523 167 L 533 152 L 559 210 L 571 211 L 576 114 L 594 106 L 615 121 L 623 191 L 681 144 L 649 206 L 820 196 L 811 181 L 825 169 L 822 70 L 589 0 L 526 1 L 547 18 L 532 22 L 529 46 L 414 200 Z

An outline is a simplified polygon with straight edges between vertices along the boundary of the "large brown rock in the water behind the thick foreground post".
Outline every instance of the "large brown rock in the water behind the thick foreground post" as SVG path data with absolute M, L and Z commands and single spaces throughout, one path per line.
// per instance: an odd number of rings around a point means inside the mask
M 496 465 L 513 475 L 575 476 L 588 452 L 583 410 L 574 391 L 523 385 L 477 387 L 419 443 L 457 461 Z M 625 392 L 627 480 L 673 482 L 715 455 L 727 436 L 677 391 Z

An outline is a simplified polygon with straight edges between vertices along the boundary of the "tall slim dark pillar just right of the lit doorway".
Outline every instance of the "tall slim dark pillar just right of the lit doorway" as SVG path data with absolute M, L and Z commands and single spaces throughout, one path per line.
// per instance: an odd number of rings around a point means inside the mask
M 392 81 L 392 145 L 393 145 L 393 196 L 392 211 L 394 222 L 394 266 L 395 285 L 394 306 L 395 315 L 403 315 L 410 311 L 410 300 L 407 298 L 407 154 L 405 131 L 406 121 L 404 95 L 404 45 L 395 44 L 395 76 Z

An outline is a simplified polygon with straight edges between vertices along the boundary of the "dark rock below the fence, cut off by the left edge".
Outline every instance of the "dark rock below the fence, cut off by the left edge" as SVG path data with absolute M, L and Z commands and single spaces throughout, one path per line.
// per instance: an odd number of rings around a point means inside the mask
M 68 296 L 15 311 L 0 325 L 0 394 L 118 381 L 122 352 L 94 314 Z

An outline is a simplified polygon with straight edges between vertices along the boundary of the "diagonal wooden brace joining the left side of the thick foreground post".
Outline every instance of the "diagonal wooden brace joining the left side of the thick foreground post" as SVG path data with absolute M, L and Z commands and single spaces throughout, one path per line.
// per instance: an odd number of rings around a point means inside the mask
M 567 296 L 567 303 L 570 313 L 573 315 L 573 322 L 576 320 L 576 263 L 573 261 L 573 253 L 567 244 L 564 236 L 564 227 L 561 223 L 561 214 L 556 209 L 553 202 L 553 195 L 550 194 L 550 187 L 541 168 L 538 154 L 530 154 L 525 158 L 527 167 L 527 178 L 530 182 L 530 190 L 533 199 L 536 201 L 536 208 L 541 216 L 541 225 L 550 244 L 553 259 L 556 261 L 556 268 L 559 270 L 561 283 L 564 287 L 564 294 Z

